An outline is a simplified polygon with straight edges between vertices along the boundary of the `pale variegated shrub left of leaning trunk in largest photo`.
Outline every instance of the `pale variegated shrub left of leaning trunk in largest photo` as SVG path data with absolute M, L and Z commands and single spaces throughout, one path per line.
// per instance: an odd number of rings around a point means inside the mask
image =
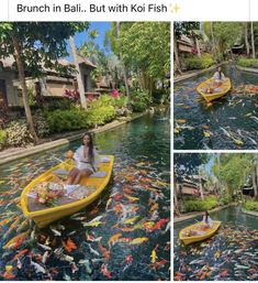
M 33 143 L 33 138 L 24 120 L 12 121 L 7 129 L 7 144 L 10 146 L 25 146 Z

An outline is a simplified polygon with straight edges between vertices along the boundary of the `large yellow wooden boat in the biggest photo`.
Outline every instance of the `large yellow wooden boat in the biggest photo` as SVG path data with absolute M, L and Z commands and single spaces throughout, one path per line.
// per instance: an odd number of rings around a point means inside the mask
M 33 203 L 33 200 L 30 193 L 33 192 L 34 187 L 38 184 L 42 184 L 42 182 L 56 182 L 55 179 L 57 178 L 57 172 L 59 171 L 63 172 L 60 174 L 67 174 L 75 166 L 75 163 L 71 160 L 68 160 L 58 164 L 55 167 L 52 167 L 51 170 L 34 178 L 23 189 L 21 195 L 21 208 L 24 216 L 29 219 L 33 219 L 40 228 L 43 228 L 60 218 L 79 211 L 80 209 L 90 205 L 100 196 L 111 178 L 113 164 L 113 155 L 101 155 L 101 163 L 99 168 L 100 172 L 97 172 L 97 174 L 93 174 L 88 178 L 81 179 L 81 188 L 82 186 L 85 188 L 93 188 L 87 197 L 83 197 L 81 199 L 70 199 L 68 197 L 63 197 L 60 204 L 53 207 L 47 207 L 40 203 L 35 204 L 36 200 L 34 199 L 34 204 L 32 206 L 31 203 Z M 98 173 L 102 173 L 102 176 L 94 176 L 98 175 Z

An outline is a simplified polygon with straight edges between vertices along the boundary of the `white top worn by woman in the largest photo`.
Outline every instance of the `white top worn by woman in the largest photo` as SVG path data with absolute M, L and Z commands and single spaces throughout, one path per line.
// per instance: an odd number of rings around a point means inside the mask
M 81 145 L 75 152 L 74 159 L 77 163 L 77 167 L 79 170 L 88 168 L 88 170 L 91 170 L 92 172 L 98 171 L 98 167 L 100 165 L 100 155 L 99 155 L 98 151 L 96 149 L 93 149 L 94 163 L 92 164 L 93 165 L 93 168 L 92 168 L 92 165 L 89 163 L 88 157 L 87 159 L 85 157 L 83 148 L 85 148 L 85 145 Z

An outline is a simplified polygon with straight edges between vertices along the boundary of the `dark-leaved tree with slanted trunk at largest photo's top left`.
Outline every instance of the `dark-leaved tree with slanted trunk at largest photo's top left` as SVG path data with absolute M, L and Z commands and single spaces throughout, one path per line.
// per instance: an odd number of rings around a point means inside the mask
M 87 23 L 72 22 L 2 22 L 0 23 L 0 58 L 14 55 L 26 121 L 34 142 L 38 142 L 27 99 L 25 72 L 32 78 L 45 76 L 46 69 L 65 73 L 58 58 L 67 55 L 66 40 L 78 31 L 88 28 Z

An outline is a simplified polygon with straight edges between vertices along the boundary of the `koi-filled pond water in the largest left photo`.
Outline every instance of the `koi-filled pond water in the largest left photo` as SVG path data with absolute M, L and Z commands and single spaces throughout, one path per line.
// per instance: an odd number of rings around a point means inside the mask
M 94 141 L 101 153 L 115 155 L 110 185 L 91 206 L 45 229 L 25 220 L 20 194 L 80 141 L 0 167 L 1 280 L 170 279 L 169 118 L 145 116 Z M 99 216 L 98 227 L 83 227 Z M 23 242 L 3 249 L 24 231 Z

